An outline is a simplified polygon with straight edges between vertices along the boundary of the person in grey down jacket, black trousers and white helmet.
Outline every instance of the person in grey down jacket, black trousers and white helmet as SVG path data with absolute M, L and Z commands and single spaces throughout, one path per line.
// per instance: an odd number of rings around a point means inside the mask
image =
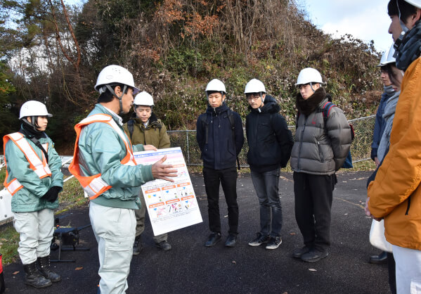
M 305 262 L 328 256 L 330 209 L 335 172 L 344 164 L 351 146 L 351 129 L 342 110 L 326 94 L 322 77 L 304 68 L 297 79 L 297 130 L 291 153 L 294 171 L 295 219 L 304 247 L 292 254 Z M 325 109 L 328 107 L 328 109 Z

